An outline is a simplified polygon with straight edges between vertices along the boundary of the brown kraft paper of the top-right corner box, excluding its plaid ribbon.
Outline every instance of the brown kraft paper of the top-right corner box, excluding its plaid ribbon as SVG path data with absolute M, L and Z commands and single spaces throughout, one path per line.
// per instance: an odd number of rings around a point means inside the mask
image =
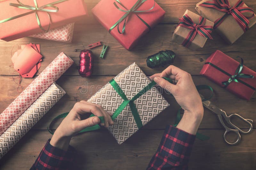
M 205 3 L 205 2 L 214 2 L 214 1 L 216 1 L 216 0 L 203 0 L 196 4 L 196 11 L 201 16 L 209 19 L 212 22 L 214 22 L 218 18 L 224 16 L 226 14 L 226 12 L 218 11 L 215 8 L 200 6 L 200 4 Z M 238 1 L 240 1 L 240 0 L 228 0 L 230 7 L 234 7 Z M 246 4 L 243 4 L 242 7 L 248 7 L 248 6 Z M 237 13 L 237 11 L 236 11 L 236 13 Z M 250 12 L 241 13 L 241 15 L 244 15 L 246 17 L 249 17 L 252 14 L 253 13 L 250 13 Z M 253 17 L 248 20 L 249 20 L 248 28 L 251 28 L 256 23 L 255 14 L 253 14 Z M 228 14 L 228 16 L 223 20 L 223 22 L 217 28 L 215 28 L 215 30 L 229 44 L 233 44 L 239 37 L 241 37 L 244 34 L 244 30 L 238 24 L 238 22 L 233 17 L 233 15 L 230 15 L 230 14 Z

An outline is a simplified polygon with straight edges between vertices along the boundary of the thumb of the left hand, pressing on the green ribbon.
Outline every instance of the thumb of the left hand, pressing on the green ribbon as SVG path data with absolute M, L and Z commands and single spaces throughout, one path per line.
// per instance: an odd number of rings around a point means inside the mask
M 99 123 L 100 123 L 100 118 L 97 116 L 93 116 L 93 117 L 89 117 L 87 119 L 78 121 L 75 124 L 75 127 L 73 127 L 73 129 L 75 131 L 81 131 L 84 128 L 91 127 L 91 126 L 94 126 L 95 124 L 99 124 Z

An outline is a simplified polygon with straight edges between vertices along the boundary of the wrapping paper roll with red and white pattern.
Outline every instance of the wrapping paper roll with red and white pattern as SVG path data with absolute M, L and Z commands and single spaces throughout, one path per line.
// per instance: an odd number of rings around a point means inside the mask
M 74 61 L 65 53 L 60 53 L 0 114 L 0 135 L 2 135 L 53 82 L 58 80 L 73 62 Z

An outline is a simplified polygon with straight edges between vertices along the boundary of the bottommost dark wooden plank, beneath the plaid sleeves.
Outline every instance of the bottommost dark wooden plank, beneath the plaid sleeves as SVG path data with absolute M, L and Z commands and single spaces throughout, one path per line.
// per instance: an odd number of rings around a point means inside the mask
M 77 150 L 75 160 L 79 169 L 145 169 L 156 152 L 163 131 L 140 130 L 122 145 L 118 145 L 107 131 L 94 131 L 73 137 L 70 144 Z M 242 135 L 241 143 L 236 146 L 224 143 L 222 130 L 199 132 L 209 135 L 210 140 L 196 139 L 189 169 L 256 168 L 255 130 L 250 135 Z M 0 160 L 0 169 L 29 169 L 48 138 L 51 138 L 51 135 L 47 131 L 29 131 Z

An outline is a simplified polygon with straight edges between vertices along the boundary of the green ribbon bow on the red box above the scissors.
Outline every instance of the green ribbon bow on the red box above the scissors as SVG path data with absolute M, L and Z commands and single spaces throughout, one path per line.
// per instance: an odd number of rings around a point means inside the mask
M 239 57 L 239 56 L 237 56 L 237 57 Z M 241 58 L 241 57 L 239 57 L 239 58 Z M 244 65 L 244 60 L 241 58 L 241 63 L 236 68 L 235 74 L 231 75 L 230 78 L 228 79 L 228 81 L 223 81 L 222 82 L 222 84 L 225 85 L 224 87 L 227 87 L 229 85 L 229 83 L 231 83 L 232 81 L 235 81 L 235 82 L 238 83 L 237 78 L 251 78 L 251 79 L 254 78 L 253 75 L 241 73 L 241 71 L 243 69 L 243 65 Z

